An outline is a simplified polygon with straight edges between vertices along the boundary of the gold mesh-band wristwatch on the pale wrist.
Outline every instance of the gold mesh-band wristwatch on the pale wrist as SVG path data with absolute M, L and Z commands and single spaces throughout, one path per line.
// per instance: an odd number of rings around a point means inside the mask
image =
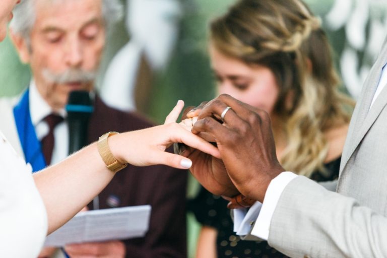
M 109 136 L 117 134 L 117 132 L 108 132 L 99 138 L 97 144 L 99 155 L 101 155 L 101 158 L 103 162 L 105 162 L 106 167 L 113 172 L 118 172 L 119 170 L 127 166 L 127 163 L 121 164 L 114 158 L 107 143 L 107 139 L 109 138 Z

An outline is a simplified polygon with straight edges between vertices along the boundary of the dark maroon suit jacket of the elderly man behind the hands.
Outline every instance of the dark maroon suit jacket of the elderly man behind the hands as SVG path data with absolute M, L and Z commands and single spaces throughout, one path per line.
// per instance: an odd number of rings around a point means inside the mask
M 89 123 L 89 143 L 106 132 L 125 132 L 153 124 L 133 112 L 106 106 L 96 96 Z M 145 237 L 128 239 L 126 257 L 186 257 L 185 192 L 187 172 L 167 166 L 128 165 L 117 172 L 99 195 L 100 209 L 151 205 L 149 231 Z M 92 209 L 92 204 L 89 204 Z

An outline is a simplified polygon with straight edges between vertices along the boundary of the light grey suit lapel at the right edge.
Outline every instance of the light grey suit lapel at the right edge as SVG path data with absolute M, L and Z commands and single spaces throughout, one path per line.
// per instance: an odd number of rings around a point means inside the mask
M 356 150 L 357 146 L 364 138 L 365 134 L 368 132 L 369 128 L 387 103 L 387 89 L 384 88 L 375 100 L 372 108 L 369 108 L 380 79 L 381 69 L 386 61 L 387 45 L 384 45 L 382 51 L 379 54 L 379 58 L 376 60 L 367 79 L 364 82 L 361 96 L 354 110 L 350 128 L 348 130 L 345 148 L 343 150 L 340 166 L 340 177 L 342 176 L 342 171 L 344 170 L 353 152 Z

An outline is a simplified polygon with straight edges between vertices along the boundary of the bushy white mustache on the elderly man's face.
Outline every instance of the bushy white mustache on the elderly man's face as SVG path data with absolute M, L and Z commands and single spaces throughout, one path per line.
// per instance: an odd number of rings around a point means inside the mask
M 94 81 L 97 76 L 95 71 L 83 71 L 82 69 L 69 69 L 59 74 L 55 74 L 48 69 L 44 69 L 42 74 L 47 81 L 59 84 L 90 82 Z

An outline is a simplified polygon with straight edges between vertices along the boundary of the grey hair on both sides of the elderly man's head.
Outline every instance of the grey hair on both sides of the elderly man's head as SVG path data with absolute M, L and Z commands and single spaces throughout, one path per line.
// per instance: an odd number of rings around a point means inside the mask
M 14 18 L 10 24 L 12 30 L 27 39 L 27 41 L 29 41 L 30 32 L 36 20 L 35 1 L 23 0 L 17 5 L 13 11 Z M 58 0 L 50 1 L 54 2 Z M 108 32 L 116 22 L 122 19 L 123 7 L 119 0 L 101 0 L 101 3 L 102 17 L 105 22 L 106 31 Z

